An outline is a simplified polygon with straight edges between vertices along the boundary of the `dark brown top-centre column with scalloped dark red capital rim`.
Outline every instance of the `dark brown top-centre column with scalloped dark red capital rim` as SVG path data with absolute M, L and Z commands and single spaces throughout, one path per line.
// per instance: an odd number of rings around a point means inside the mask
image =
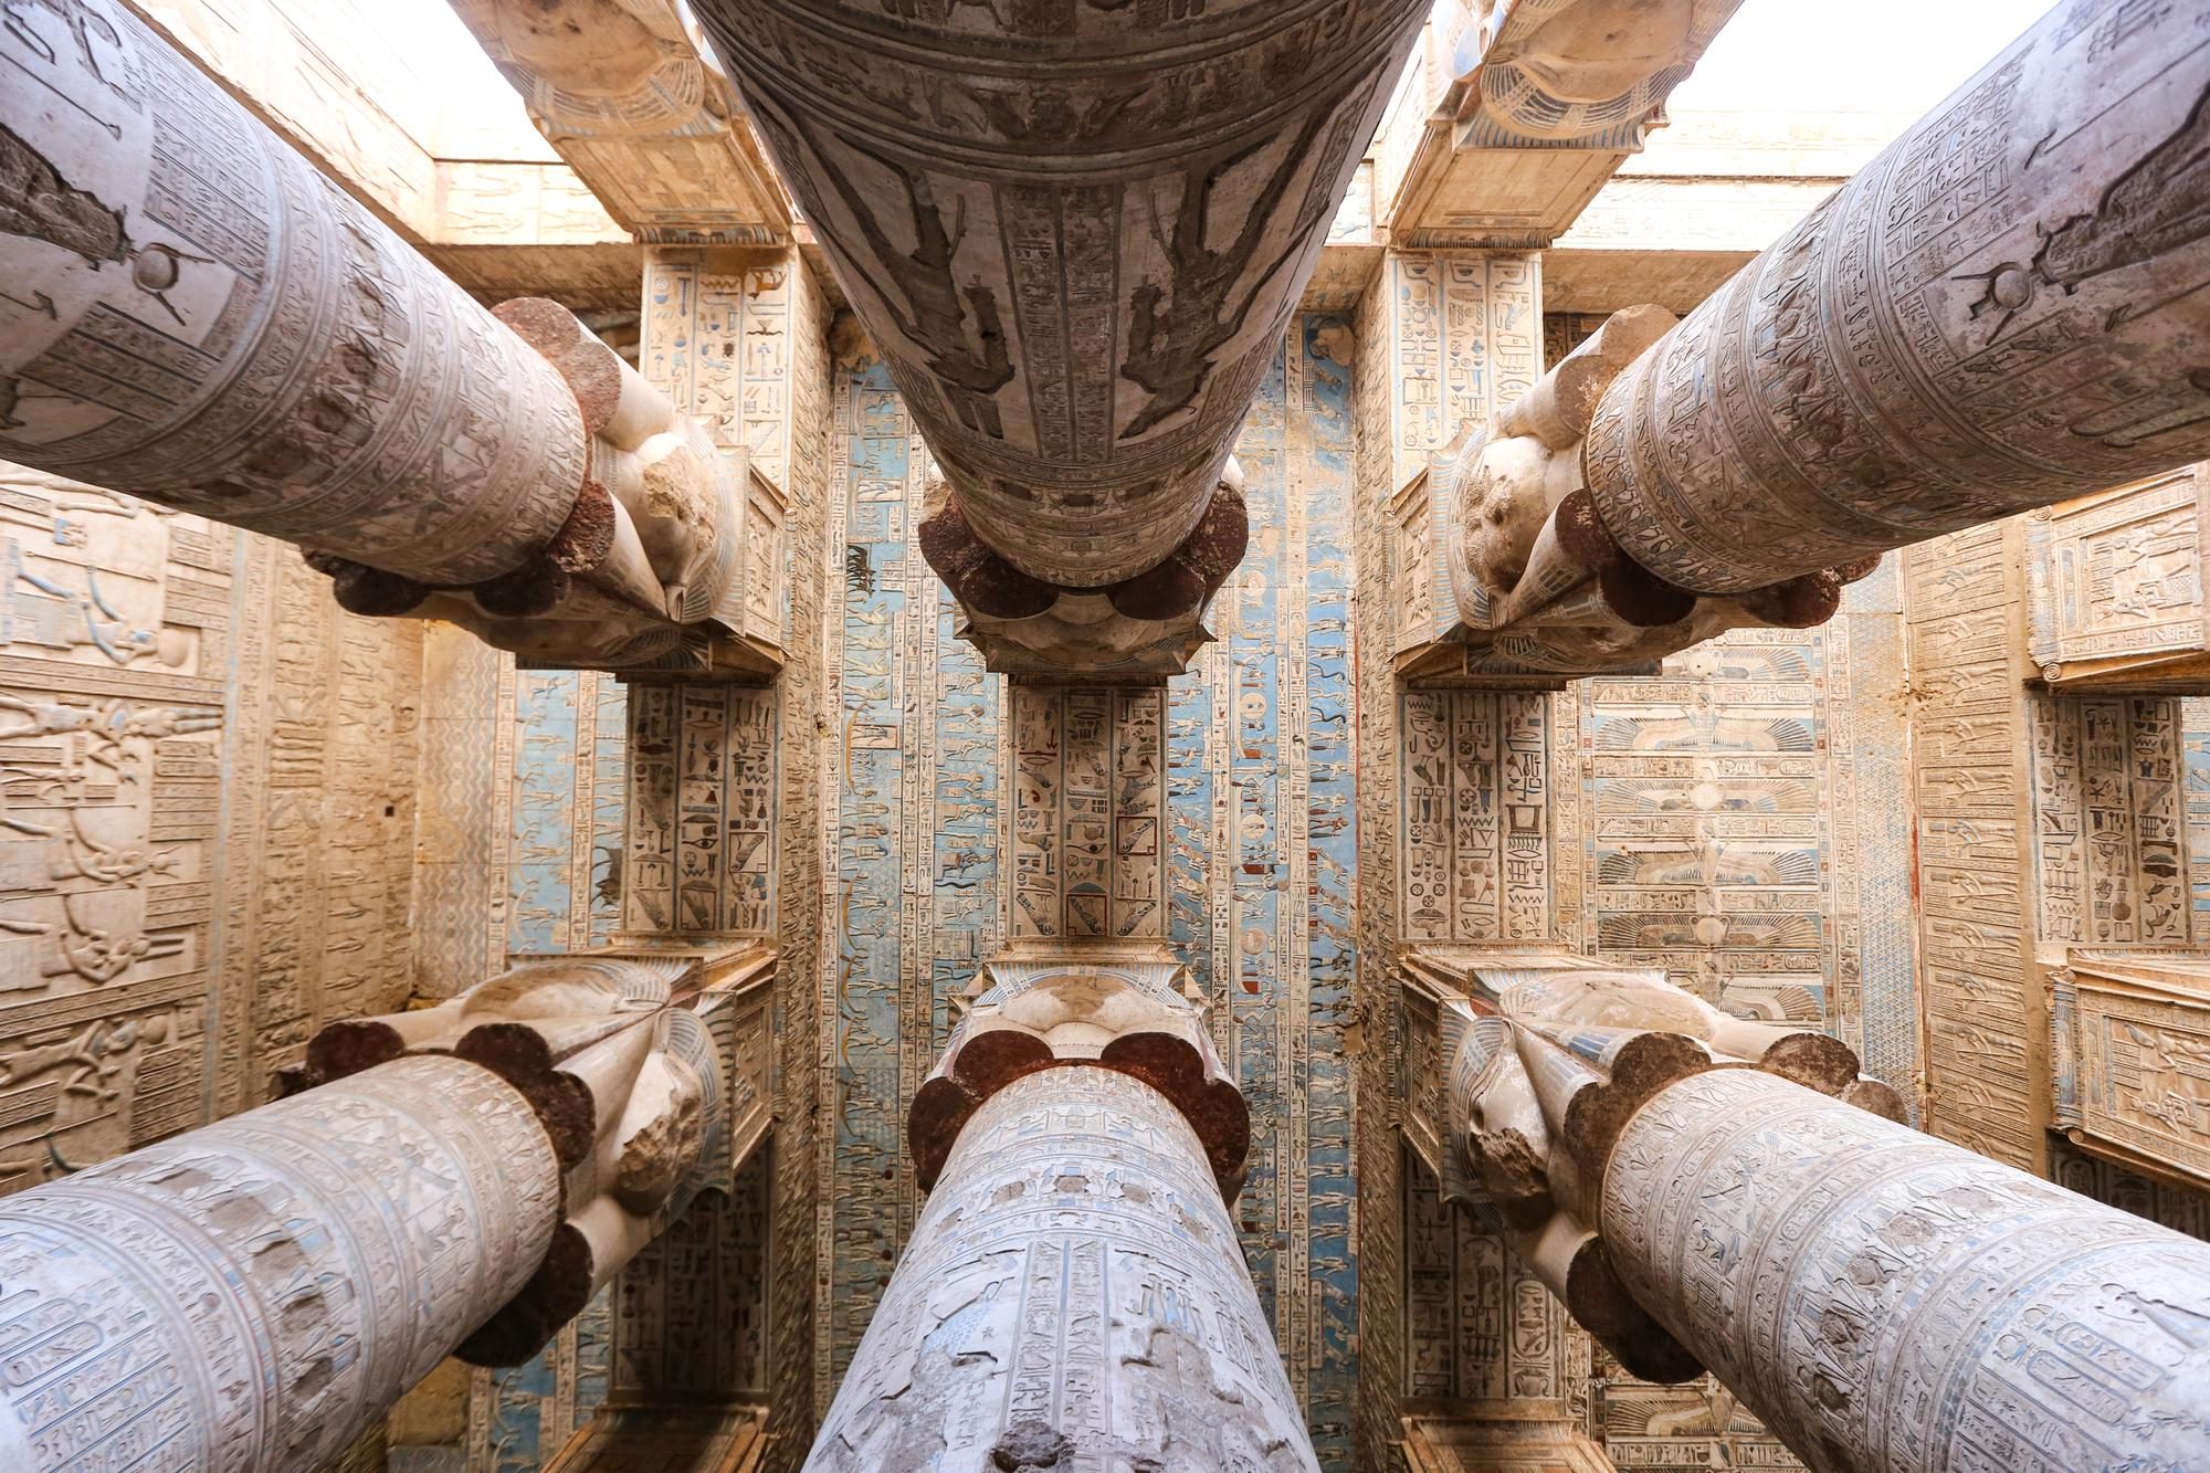
M 1229 449 L 1428 7 L 696 11 L 944 471 L 930 566 L 992 621 L 1090 591 L 1063 624 L 1193 624 L 1242 557 Z

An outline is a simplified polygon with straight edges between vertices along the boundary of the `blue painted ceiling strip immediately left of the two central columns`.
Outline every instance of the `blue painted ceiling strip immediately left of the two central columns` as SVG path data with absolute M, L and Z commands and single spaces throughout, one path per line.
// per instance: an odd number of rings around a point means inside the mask
M 831 840 L 822 936 L 813 1393 L 827 1407 L 919 1208 L 904 1108 L 1003 933 L 999 767 L 1006 681 L 953 637 L 919 553 L 926 449 L 873 356 L 835 369 L 827 701 Z

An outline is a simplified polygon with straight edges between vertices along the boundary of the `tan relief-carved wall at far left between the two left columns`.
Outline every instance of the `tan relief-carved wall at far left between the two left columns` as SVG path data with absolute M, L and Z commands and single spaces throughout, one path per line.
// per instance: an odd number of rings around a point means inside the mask
M 292 549 L 0 467 L 0 1192 L 404 993 L 420 637 Z

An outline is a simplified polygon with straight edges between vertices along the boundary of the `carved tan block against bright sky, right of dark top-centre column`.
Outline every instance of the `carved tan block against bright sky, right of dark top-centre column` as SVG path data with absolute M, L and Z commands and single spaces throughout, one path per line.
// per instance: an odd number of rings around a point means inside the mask
M 1408 248 L 1545 248 L 1662 126 L 1741 0 L 1478 4 L 1386 203 Z

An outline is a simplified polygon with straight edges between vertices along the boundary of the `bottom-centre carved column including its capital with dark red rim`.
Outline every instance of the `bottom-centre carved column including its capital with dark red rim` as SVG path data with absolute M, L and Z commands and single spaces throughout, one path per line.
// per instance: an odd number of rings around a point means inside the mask
M 928 1205 L 807 1469 L 1317 1471 L 1229 1219 L 1251 1110 L 1165 947 L 983 969 L 906 1112 Z

